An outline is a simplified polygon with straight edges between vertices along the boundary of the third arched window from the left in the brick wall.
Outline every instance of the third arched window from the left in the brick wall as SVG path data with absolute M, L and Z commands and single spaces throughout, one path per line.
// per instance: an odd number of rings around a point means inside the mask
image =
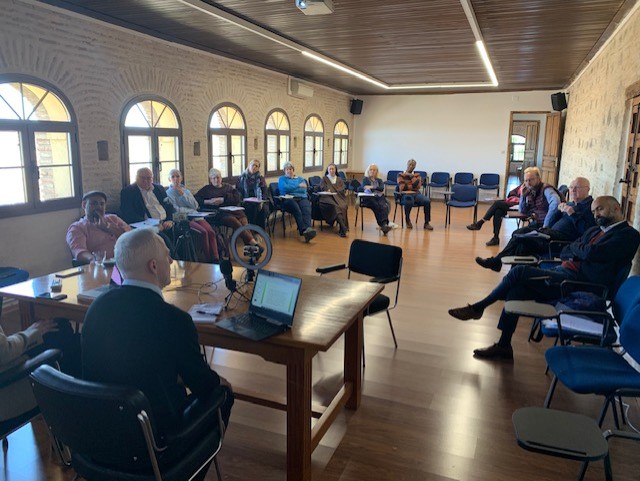
M 211 114 L 211 166 L 223 179 L 238 177 L 247 166 L 247 127 L 238 107 L 223 104 Z

